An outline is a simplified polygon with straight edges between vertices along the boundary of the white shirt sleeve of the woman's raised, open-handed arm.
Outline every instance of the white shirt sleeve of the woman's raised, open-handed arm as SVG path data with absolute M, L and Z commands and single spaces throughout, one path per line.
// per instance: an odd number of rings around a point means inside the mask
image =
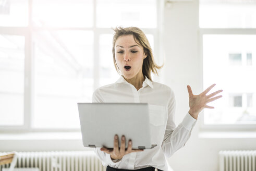
M 168 121 L 166 125 L 164 140 L 162 143 L 162 149 L 167 157 L 172 156 L 178 149 L 183 147 L 188 141 L 191 130 L 196 124 L 196 119 L 186 114 L 182 122 L 175 126 L 174 123 L 175 114 L 175 96 L 174 92 L 170 90 L 169 102 L 168 102 Z

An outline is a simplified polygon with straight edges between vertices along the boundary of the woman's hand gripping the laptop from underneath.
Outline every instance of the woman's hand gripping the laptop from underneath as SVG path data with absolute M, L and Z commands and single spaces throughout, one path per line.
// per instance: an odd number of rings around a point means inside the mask
M 141 152 L 143 150 L 132 150 L 132 142 L 129 140 L 128 148 L 125 149 L 125 136 L 121 137 L 121 145 L 119 149 L 119 142 L 118 142 L 118 136 L 115 135 L 114 137 L 114 149 L 108 149 L 108 148 L 101 148 L 101 151 L 110 154 L 112 160 L 114 159 L 121 159 L 124 155 L 132 153 L 132 152 Z

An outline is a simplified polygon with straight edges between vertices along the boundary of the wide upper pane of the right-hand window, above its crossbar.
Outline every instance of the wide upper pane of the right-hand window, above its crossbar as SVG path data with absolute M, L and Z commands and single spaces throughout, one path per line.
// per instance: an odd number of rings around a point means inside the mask
M 201 28 L 256 28 L 256 1 L 200 0 L 199 25 Z

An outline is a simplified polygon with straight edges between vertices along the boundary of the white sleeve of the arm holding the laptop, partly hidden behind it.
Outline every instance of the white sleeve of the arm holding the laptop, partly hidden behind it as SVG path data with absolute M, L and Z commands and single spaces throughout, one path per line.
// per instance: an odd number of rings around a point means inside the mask
M 104 102 L 99 89 L 94 91 L 93 96 L 92 96 L 92 102 L 93 103 L 103 103 Z M 101 151 L 101 148 L 95 148 L 94 152 L 96 153 L 97 157 L 99 157 L 99 159 L 101 160 L 103 166 L 107 166 L 109 164 L 115 165 L 121 161 L 121 160 L 119 160 L 118 162 L 113 162 L 110 157 L 110 154 L 107 154 L 107 153 Z

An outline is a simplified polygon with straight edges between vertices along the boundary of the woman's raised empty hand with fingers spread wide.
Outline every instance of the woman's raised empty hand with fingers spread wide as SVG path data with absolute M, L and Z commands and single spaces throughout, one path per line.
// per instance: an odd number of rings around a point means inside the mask
M 189 114 L 197 119 L 199 113 L 202 111 L 202 109 L 204 108 L 214 108 L 212 106 L 208 106 L 207 103 L 215 101 L 216 99 L 219 99 L 222 97 L 222 95 L 215 96 L 216 94 L 222 92 L 223 90 L 218 90 L 215 91 L 212 94 L 206 95 L 216 84 L 212 84 L 212 86 L 210 86 L 209 88 L 207 88 L 206 90 L 204 90 L 201 94 L 199 95 L 194 95 L 192 93 L 191 87 L 187 86 L 188 88 L 188 95 L 189 95 Z

